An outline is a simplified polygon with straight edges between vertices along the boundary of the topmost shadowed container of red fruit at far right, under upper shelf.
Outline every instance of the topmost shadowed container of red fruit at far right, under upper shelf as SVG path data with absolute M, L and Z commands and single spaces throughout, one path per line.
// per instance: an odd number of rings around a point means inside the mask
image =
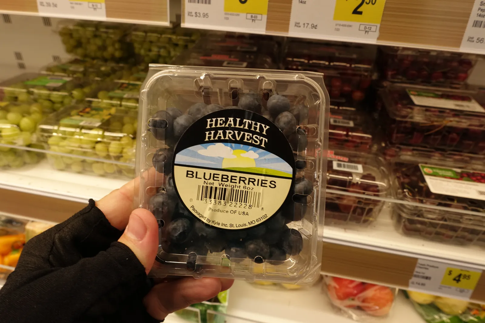
M 382 76 L 393 82 L 436 86 L 465 84 L 478 55 L 403 47 L 380 47 Z

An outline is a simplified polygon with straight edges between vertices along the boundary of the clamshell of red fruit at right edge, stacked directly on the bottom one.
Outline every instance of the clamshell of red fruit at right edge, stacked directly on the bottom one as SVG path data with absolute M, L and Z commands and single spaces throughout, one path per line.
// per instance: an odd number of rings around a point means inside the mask
M 392 85 L 380 91 L 392 144 L 485 154 L 485 97 L 474 89 Z

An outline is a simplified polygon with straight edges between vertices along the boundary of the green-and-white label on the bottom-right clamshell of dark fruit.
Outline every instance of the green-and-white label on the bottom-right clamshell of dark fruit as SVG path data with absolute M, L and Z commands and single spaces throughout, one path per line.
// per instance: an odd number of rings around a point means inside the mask
M 420 164 L 431 192 L 467 199 L 485 200 L 485 173 Z

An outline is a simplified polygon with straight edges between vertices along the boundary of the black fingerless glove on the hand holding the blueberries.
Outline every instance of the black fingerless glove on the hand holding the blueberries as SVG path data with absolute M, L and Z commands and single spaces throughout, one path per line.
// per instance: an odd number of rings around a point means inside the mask
M 1 322 L 160 322 L 142 300 L 145 268 L 94 200 L 32 238 L 0 290 Z

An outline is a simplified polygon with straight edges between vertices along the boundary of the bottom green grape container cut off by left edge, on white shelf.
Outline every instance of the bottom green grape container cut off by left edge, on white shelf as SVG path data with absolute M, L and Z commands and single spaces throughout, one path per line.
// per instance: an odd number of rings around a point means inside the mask
M 0 102 L 0 169 L 32 165 L 42 159 L 43 154 L 25 150 L 32 147 L 32 134 L 42 118 L 38 103 Z

